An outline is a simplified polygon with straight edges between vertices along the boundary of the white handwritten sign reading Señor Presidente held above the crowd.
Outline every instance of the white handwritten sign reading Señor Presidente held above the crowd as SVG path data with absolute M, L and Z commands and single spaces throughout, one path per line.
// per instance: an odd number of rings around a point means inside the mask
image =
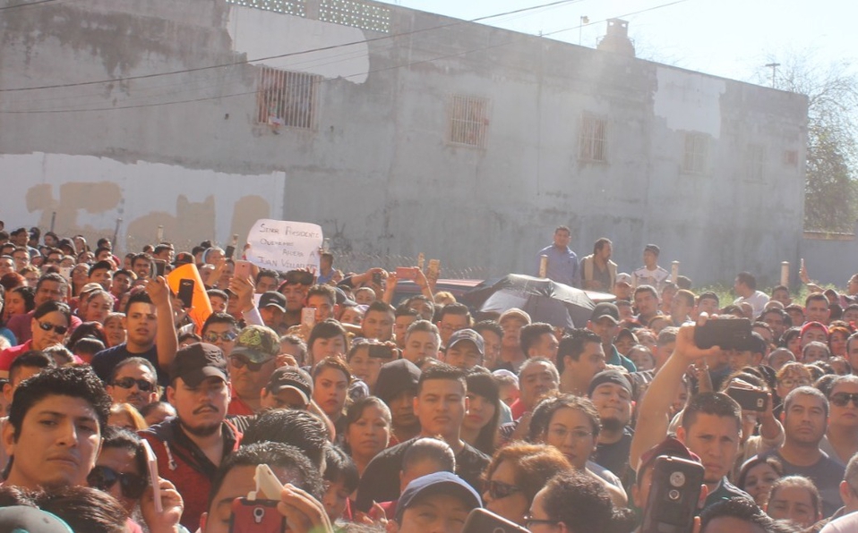
M 319 269 L 322 227 L 306 222 L 261 218 L 247 234 L 247 260 L 260 268 L 288 272 L 297 268 Z

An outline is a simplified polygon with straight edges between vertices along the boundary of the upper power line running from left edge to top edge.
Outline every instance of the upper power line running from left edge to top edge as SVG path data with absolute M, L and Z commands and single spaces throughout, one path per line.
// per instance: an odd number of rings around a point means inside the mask
M 43 2 L 55 2 L 55 1 L 56 0 L 39 0 L 39 2 L 34 2 L 33 4 L 43 3 Z M 255 59 L 245 59 L 244 61 L 236 61 L 233 63 L 214 64 L 214 65 L 195 67 L 195 68 L 190 68 L 190 69 L 183 69 L 183 70 L 178 70 L 178 71 L 153 72 L 151 74 L 140 74 L 137 76 L 125 76 L 125 77 L 119 77 L 119 78 L 110 78 L 107 80 L 77 81 L 77 82 L 71 82 L 71 83 L 57 83 L 55 85 L 40 85 L 40 86 L 34 86 L 34 87 L 17 87 L 17 88 L 12 88 L 12 89 L 0 89 L 0 93 L 2 93 L 2 92 L 20 92 L 20 91 L 24 91 L 24 90 L 39 90 L 39 89 L 64 89 L 64 88 L 70 88 L 70 87 L 82 87 L 85 85 L 98 85 L 101 83 L 116 83 L 117 81 L 145 80 L 148 78 L 158 78 L 160 76 L 171 76 L 171 75 L 175 75 L 175 74 L 185 74 L 185 73 L 189 73 L 189 72 L 207 71 L 207 70 L 211 70 L 211 69 L 231 67 L 231 66 L 236 66 L 236 65 L 246 64 L 246 63 L 256 63 L 256 62 L 260 62 L 260 61 L 270 61 L 272 59 L 282 59 L 285 57 L 294 57 L 296 55 L 313 54 L 315 52 L 326 52 L 328 50 L 335 50 L 337 48 L 342 48 L 342 47 L 352 47 L 352 46 L 356 46 L 356 45 L 364 45 L 367 43 L 372 43 L 372 42 L 380 41 L 380 40 L 384 40 L 384 39 L 406 37 L 408 35 L 413 35 L 413 34 L 425 32 L 425 31 L 442 30 L 444 28 L 450 28 L 452 26 L 458 26 L 459 24 L 467 24 L 467 23 L 472 23 L 472 22 L 487 21 L 489 19 L 494 19 L 497 17 L 503 17 L 503 16 L 507 16 L 507 15 L 511 15 L 511 14 L 524 13 L 524 12 L 533 11 L 536 9 L 543 9 L 546 7 L 553 7 L 553 6 L 562 5 L 562 4 L 575 4 L 578 2 L 582 2 L 582 1 L 583 0 L 555 0 L 554 2 L 549 2 L 547 4 L 534 5 L 534 6 L 524 7 L 521 9 L 516 9 L 516 10 L 504 12 L 504 13 L 486 15 L 483 17 L 477 17 L 476 19 L 471 19 L 469 21 L 455 21 L 455 22 L 450 22 L 449 24 L 442 24 L 441 26 L 433 26 L 431 28 L 424 28 L 422 30 L 411 30 L 411 31 L 403 32 L 403 33 L 393 34 L 393 35 L 384 35 L 384 36 L 380 36 L 380 37 L 376 37 L 376 38 L 370 38 L 370 39 L 364 39 L 364 40 L 359 40 L 359 41 L 352 41 L 352 42 L 348 42 L 348 43 L 342 43 L 339 45 L 331 45 L 330 47 L 319 47 L 319 48 L 313 48 L 310 50 L 302 50 L 300 52 L 290 52 L 288 54 L 270 55 L 267 57 L 258 57 Z

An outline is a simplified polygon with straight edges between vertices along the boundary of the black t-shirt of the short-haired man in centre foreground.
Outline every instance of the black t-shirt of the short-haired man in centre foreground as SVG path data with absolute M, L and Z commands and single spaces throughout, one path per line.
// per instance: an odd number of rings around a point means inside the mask
M 373 457 L 366 465 L 364 475 L 357 486 L 356 507 L 363 512 L 369 512 L 373 502 L 392 502 L 399 499 L 399 471 L 402 470 L 402 457 L 406 450 L 420 438 L 415 438 L 397 444 Z M 468 443 L 456 454 L 456 474 L 459 478 L 473 486 L 478 494 L 483 490 L 480 476 L 488 466 L 491 458 Z

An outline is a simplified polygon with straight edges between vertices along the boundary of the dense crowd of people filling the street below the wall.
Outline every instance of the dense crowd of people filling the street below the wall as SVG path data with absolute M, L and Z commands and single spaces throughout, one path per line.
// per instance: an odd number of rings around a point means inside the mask
M 689 531 L 858 530 L 858 275 L 839 293 L 802 270 L 794 303 L 743 272 L 722 302 L 656 245 L 624 274 L 611 241 L 579 260 L 570 240 L 531 274 L 613 293 L 574 328 L 469 309 L 419 267 L 0 231 L 0 530 L 460 533 L 482 509 L 680 531 L 653 518 L 664 458 L 703 472 Z M 699 345 L 734 318 L 752 333 Z

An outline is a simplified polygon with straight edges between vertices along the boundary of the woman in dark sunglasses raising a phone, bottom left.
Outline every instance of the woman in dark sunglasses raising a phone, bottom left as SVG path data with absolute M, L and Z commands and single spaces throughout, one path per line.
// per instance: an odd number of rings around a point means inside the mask
M 142 531 L 137 523 L 140 521 L 145 521 L 152 531 L 177 526 L 184 508 L 182 496 L 169 481 L 159 479 L 163 512 L 155 512 L 146 453 L 140 437 L 114 426 L 105 427 L 101 436 L 101 452 L 95 467 L 90 470 L 87 483 L 112 495 L 122 504 L 133 517 L 127 523 L 127 530 L 131 533 Z

